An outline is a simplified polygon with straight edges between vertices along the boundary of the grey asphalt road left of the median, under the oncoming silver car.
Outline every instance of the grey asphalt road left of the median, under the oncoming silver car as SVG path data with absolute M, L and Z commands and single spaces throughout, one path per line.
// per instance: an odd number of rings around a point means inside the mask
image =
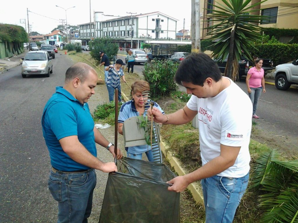
M 56 86 L 64 83 L 65 72 L 74 62 L 68 55 L 56 54 L 53 73 L 22 78 L 21 66 L 0 75 L 0 222 L 56 222 L 57 202 L 48 190 L 50 158 L 42 129 L 41 115 Z M 90 111 L 108 102 L 105 85 L 98 85 L 90 98 Z M 91 101 L 91 99 L 93 101 Z M 114 129 L 101 130 L 114 142 Z M 106 136 L 107 135 L 107 136 Z M 113 157 L 97 146 L 103 161 Z M 97 171 L 91 223 L 98 222 L 107 174 Z

